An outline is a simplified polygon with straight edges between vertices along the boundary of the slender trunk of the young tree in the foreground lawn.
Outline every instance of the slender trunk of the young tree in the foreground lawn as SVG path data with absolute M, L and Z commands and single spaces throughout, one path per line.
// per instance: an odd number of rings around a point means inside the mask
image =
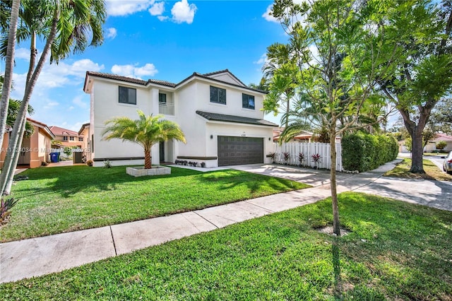
M 333 128 L 334 126 L 334 128 Z M 336 131 L 335 121 L 331 122 L 330 129 L 330 158 L 331 158 L 331 203 L 333 205 L 333 232 L 340 236 L 340 222 L 339 222 L 339 206 L 338 206 L 338 190 L 336 187 Z

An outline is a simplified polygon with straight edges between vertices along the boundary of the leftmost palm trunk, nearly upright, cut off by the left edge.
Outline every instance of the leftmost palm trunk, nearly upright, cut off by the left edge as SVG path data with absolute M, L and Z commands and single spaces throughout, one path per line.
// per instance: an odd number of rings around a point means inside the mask
M 16 47 L 19 6 L 20 0 L 13 0 L 13 4 L 11 6 L 11 18 L 9 21 L 8 48 L 6 49 L 4 84 L 0 100 L 0 146 L 3 145 L 3 139 L 6 130 L 6 117 L 8 116 L 9 95 L 11 94 L 11 84 L 13 82 L 14 49 Z

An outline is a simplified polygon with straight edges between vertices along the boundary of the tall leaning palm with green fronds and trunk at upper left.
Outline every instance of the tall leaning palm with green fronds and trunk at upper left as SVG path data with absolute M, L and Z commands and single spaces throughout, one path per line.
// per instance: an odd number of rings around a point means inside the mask
M 3 4 L 3 2 L 2 2 Z M 7 3 L 8 4 L 8 3 Z M 2 11 L 3 13 L 3 11 Z M 25 92 L 18 116 L 13 126 L 8 152 L 6 153 L 4 172 L 0 175 L 0 195 L 9 194 L 7 183 L 13 179 L 13 171 L 18 160 L 18 150 L 25 131 L 28 104 L 35 88 L 37 78 L 44 62 L 50 54 L 50 62 L 58 63 L 71 53 L 81 53 L 86 47 L 99 46 L 103 42 L 102 24 L 106 11 L 103 0 L 23 0 L 19 11 L 18 42 L 30 42 L 30 66 L 28 69 Z M 0 23 L 4 25 L 4 23 Z M 12 30 L 2 28 L 2 33 Z M 44 40 L 44 48 L 37 61 L 36 38 Z M 0 54 L 5 56 L 6 42 L 0 37 Z M 8 74 L 8 76 L 12 76 Z M 6 74 L 5 74 L 6 77 Z

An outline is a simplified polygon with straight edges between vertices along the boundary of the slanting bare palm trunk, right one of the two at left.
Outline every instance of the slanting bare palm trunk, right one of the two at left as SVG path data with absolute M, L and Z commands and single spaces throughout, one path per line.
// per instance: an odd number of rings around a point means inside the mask
M 50 48 L 54 42 L 55 36 L 57 35 L 57 23 L 60 15 L 60 6 L 57 4 L 54 8 L 54 16 L 52 19 L 52 28 L 47 38 L 47 42 L 42 50 L 40 60 L 37 63 L 35 71 L 30 76 L 30 72 L 33 70 L 30 66 L 29 73 L 27 76 L 27 85 L 25 85 L 25 93 L 23 95 L 22 103 L 20 104 L 20 109 L 16 117 L 16 121 L 13 125 L 13 132 L 11 133 L 11 138 L 9 140 L 8 151 L 6 152 L 4 171 L 0 174 L 0 196 L 4 194 L 7 183 L 12 181 L 14 177 L 14 170 L 16 170 L 16 165 L 14 165 L 13 158 L 14 153 L 19 151 L 20 144 L 22 143 L 23 131 L 25 131 L 25 124 L 28 112 L 28 103 L 32 95 L 33 88 L 35 88 L 37 78 L 42 71 L 42 67 L 47 59 L 47 55 L 50 52 Z M 36 55 L 35 52 L 30 54 L 31 56 Z M 30 64 L 32 64 L 33 59 L 30 59 Z

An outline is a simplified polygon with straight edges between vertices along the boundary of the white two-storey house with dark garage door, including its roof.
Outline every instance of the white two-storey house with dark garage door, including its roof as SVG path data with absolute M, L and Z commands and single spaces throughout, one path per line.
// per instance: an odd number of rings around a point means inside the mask
M 186 144 L 167 141 L 151 151 L 153 164 L 187 160 L 206 167 L 269 163 L 273 127 L 263 120 L 262 90 L 249 88 L 230 71 L 193 73 L 179 83 L 86 73 L 83 90 L 90 94 L 90 148 L 95 166 L 143 164 L 143 149 L 119 139 L 102 140 L 112 117 L 138 119 L 162 114 L 181 126 Z

